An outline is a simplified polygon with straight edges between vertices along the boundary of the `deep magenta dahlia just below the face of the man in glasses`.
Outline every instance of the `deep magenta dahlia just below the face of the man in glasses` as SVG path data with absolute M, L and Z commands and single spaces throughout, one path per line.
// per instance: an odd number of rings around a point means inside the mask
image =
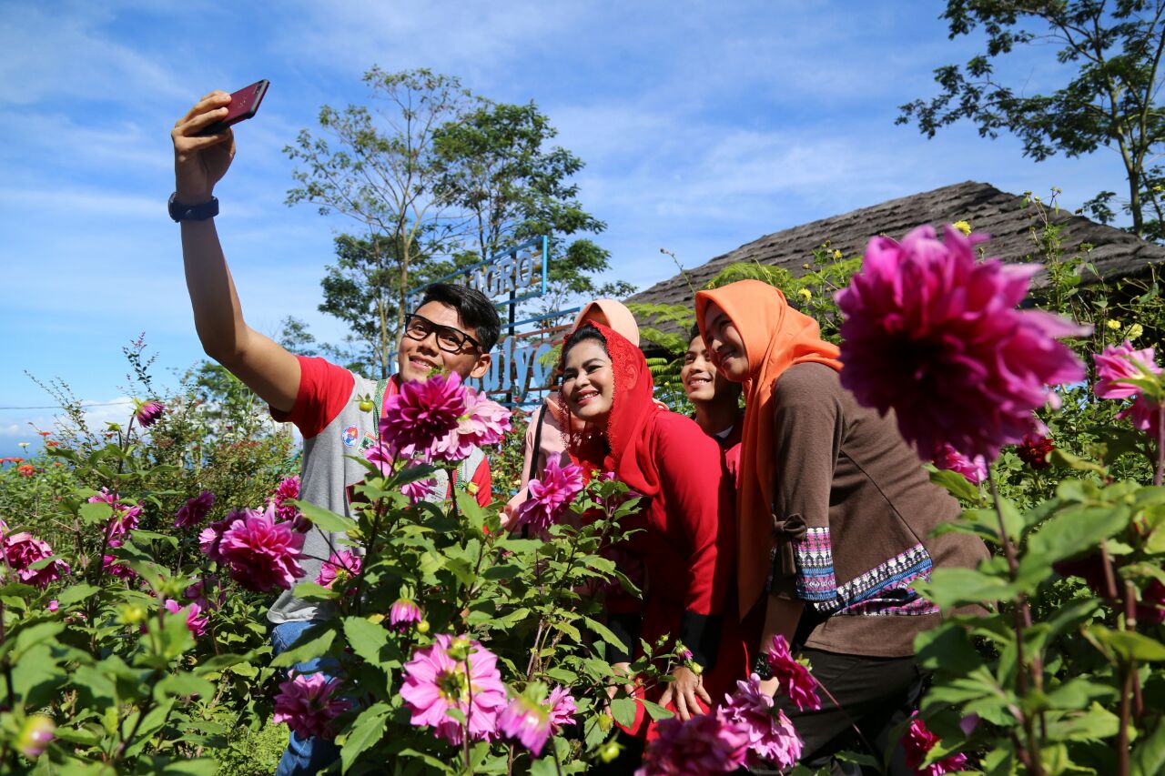
M 384 402 L 380 436 L 402 457 L 457 460 L 442 445 L 465 415 L 466 389 L 458 374 L 410 380 Z M 466 453 L 468 454 L 468 453 Z

